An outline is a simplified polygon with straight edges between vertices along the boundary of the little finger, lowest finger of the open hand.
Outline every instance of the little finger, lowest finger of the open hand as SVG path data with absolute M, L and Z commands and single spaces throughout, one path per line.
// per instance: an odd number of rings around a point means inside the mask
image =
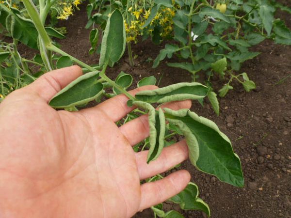
M 185 170 L 173 172 L 165 178 L 145 183 L 141 186 L 141 204 L 139 210 L 164 202 L 181 192 L 190 181 L 190 173 Z

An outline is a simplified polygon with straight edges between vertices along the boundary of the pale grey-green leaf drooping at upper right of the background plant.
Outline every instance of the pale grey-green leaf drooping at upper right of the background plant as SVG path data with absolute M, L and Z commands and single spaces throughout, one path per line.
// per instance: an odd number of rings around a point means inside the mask
M 267 31 L 268 36 L 272 31 L 272 22 L 274 21 L 275 9 L 271 5 L 263 4 L 259 6 L 259 16 L 262 19 L 265 30 Z

